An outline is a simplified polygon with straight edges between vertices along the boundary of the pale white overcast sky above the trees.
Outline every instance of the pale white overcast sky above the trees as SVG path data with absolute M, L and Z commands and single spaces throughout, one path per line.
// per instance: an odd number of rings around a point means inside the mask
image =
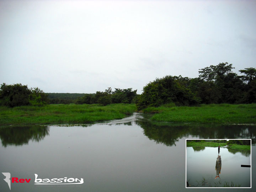
M 140 94 L 165 75 L 255 61 L 255 0 L 0 0 L 0 84 Z

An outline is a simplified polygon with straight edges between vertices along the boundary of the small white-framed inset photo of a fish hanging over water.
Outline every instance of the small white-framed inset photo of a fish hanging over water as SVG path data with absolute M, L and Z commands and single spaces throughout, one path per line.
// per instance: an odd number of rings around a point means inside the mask
M 251 139 L 186 139 L 186 188 L 251 188 Z

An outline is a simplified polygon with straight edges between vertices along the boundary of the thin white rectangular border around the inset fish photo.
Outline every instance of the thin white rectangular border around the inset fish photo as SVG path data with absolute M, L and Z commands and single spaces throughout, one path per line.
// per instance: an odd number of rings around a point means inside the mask
M 195 189 L 195 188 L 251 188 L 251 187 L 187 187 L 187 140 L 251 140 L 251 139 L 186 139 L 186 143 L 185 143 L 185 148 L 186 148 L 186 183 L 185 183 L 185 186 L 186 186 L 186 189 Z M 251 150 L 251 156 L 252 156 L 252 150 Z M 251 167 L 252 167 L 252 161 L 251 161 Z

